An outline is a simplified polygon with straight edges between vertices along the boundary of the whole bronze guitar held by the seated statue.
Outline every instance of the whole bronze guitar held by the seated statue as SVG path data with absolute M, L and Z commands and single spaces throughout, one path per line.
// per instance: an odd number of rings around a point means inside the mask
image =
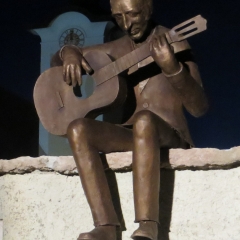
M 182 41 L 206 30 L 206 19 L 200 15 L 185 21 L 166 34 L 169 44 Z M 94 73 L 95 90 L 88 98 L 76 97 L 73 87 L 63 80 L 62 67 L 53 67 L 43 72 L 34 87 L 34 103 L 43 126 L 54 135 L 66 135 L 69 123 L 77 118 L 95 118 L 111 107 L 121 104 L 126 98 L 124 79 L 119 74 L 133 69 L 149 58 L 149 43 L 133 50 L 112 62 L 101 51 L 90 51 L 84 58 Z M 150 61 L 153 59 L 150 57 Z

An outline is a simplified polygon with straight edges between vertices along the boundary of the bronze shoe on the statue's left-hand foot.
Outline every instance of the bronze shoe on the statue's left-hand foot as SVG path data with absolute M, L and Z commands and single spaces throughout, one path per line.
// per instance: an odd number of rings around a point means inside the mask
M 91 232 L 81 233 L 77 240 L 116 240 L 116 226 L 98 226 Z

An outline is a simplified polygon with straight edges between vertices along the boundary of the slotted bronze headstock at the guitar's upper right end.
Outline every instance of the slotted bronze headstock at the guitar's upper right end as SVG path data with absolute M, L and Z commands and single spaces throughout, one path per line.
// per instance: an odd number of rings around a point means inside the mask
M 168 43 L 180 42 L 207 29 L 207 20 L 197 15 L 181 24 L 178 24 L 166 33 Z

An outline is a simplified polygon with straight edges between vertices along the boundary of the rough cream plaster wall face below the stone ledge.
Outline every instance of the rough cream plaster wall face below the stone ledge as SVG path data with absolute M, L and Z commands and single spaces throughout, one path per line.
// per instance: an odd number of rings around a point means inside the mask
M 173 177 L 175 173 L 175 176 Z M 239 240 L 240 168 L 210 171 L 162 170 L 161 240 Z M 175 184 L 171 182 L 175 178 Z M 116 173 L 130 240 L 133 223 L 132 174 Z M 163 183 L 162 183 L 163 184 Z M 174 185 L 171 208 L 171 185 Z M 76 240 L 92 219 L 78 176 L 35 171 L 0 178 L 4 240 Z M 172 213 L 171 213 L 172 210 Z M 164 234 L 163 234 L 164 235 Z

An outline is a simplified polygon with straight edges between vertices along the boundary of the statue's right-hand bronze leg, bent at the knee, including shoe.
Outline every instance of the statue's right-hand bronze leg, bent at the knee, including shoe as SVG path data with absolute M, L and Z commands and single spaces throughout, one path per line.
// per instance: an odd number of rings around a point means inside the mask
M 174 129 L 150 111 L 135 116 L 133 127 L 133 187 L 135 221 L 140 222 L 132 238 L 157 239 L 159 221 L 160 148 L 181 146 Z

